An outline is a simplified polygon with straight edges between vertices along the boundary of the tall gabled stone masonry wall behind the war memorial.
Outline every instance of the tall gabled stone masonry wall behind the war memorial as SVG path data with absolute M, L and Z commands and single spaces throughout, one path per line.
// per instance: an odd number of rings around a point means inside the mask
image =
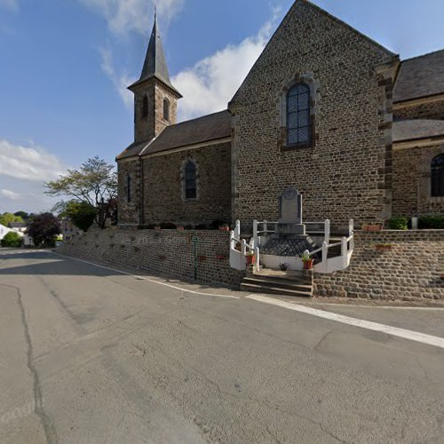
M 305 220 L 389 218 L 394 60 L 313 4 L 297 2 L 229 105 L 234 218 L 242 225 L 276 220 L 278 197 L 291 185 L 304 193 Z M 306 73 L 318 86 L 318 139 L 314 147 L 281 150 L 281 91 Z

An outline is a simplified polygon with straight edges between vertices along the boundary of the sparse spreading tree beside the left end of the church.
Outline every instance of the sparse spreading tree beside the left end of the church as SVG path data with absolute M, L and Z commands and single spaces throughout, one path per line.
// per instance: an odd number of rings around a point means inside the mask
M 115 167 L 98 156 L 88 159 L 79 170 L 67 170 L 58 180 L 45 184 L 45 194 L 65 196 L 75 202 L 85 202 L 97 209 L 95 217 L 100 228 L 105 228 L 117 196 Z M 61 206 L 66 202 L 60 202 Z M 59 205 L 60 206 L 60 205 Z

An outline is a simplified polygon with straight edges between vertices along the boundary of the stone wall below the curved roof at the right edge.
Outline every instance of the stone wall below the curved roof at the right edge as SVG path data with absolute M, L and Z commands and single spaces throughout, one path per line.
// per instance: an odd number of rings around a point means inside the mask
M 394 216 L 444 214 L 444 197 L 431 196 L 431 163 L 441 147 L 410 147 L 393 150 Z

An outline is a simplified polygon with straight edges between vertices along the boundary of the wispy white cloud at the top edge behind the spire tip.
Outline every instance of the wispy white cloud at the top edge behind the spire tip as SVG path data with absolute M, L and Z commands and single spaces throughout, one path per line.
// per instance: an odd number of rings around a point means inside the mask
M 125 35 L 133 31 L 146 36 L 155 4 L 157 14 L 169 22 L 182 9 L 185 0 L 80 0 L 80 2 L 91 10 L 99 12 L 115 34 Z

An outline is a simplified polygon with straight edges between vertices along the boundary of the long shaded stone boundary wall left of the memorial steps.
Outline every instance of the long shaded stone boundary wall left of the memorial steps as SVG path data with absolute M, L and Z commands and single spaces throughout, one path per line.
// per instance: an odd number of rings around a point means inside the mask
M 230 234 L 198 230 L 90 230 L 59 247 L 59 254 L 109 266 L 124 266 L 194 281 L 194 242 L 197 242 L 197 281 L 238 289 L 244 272 L 229 265 Z

